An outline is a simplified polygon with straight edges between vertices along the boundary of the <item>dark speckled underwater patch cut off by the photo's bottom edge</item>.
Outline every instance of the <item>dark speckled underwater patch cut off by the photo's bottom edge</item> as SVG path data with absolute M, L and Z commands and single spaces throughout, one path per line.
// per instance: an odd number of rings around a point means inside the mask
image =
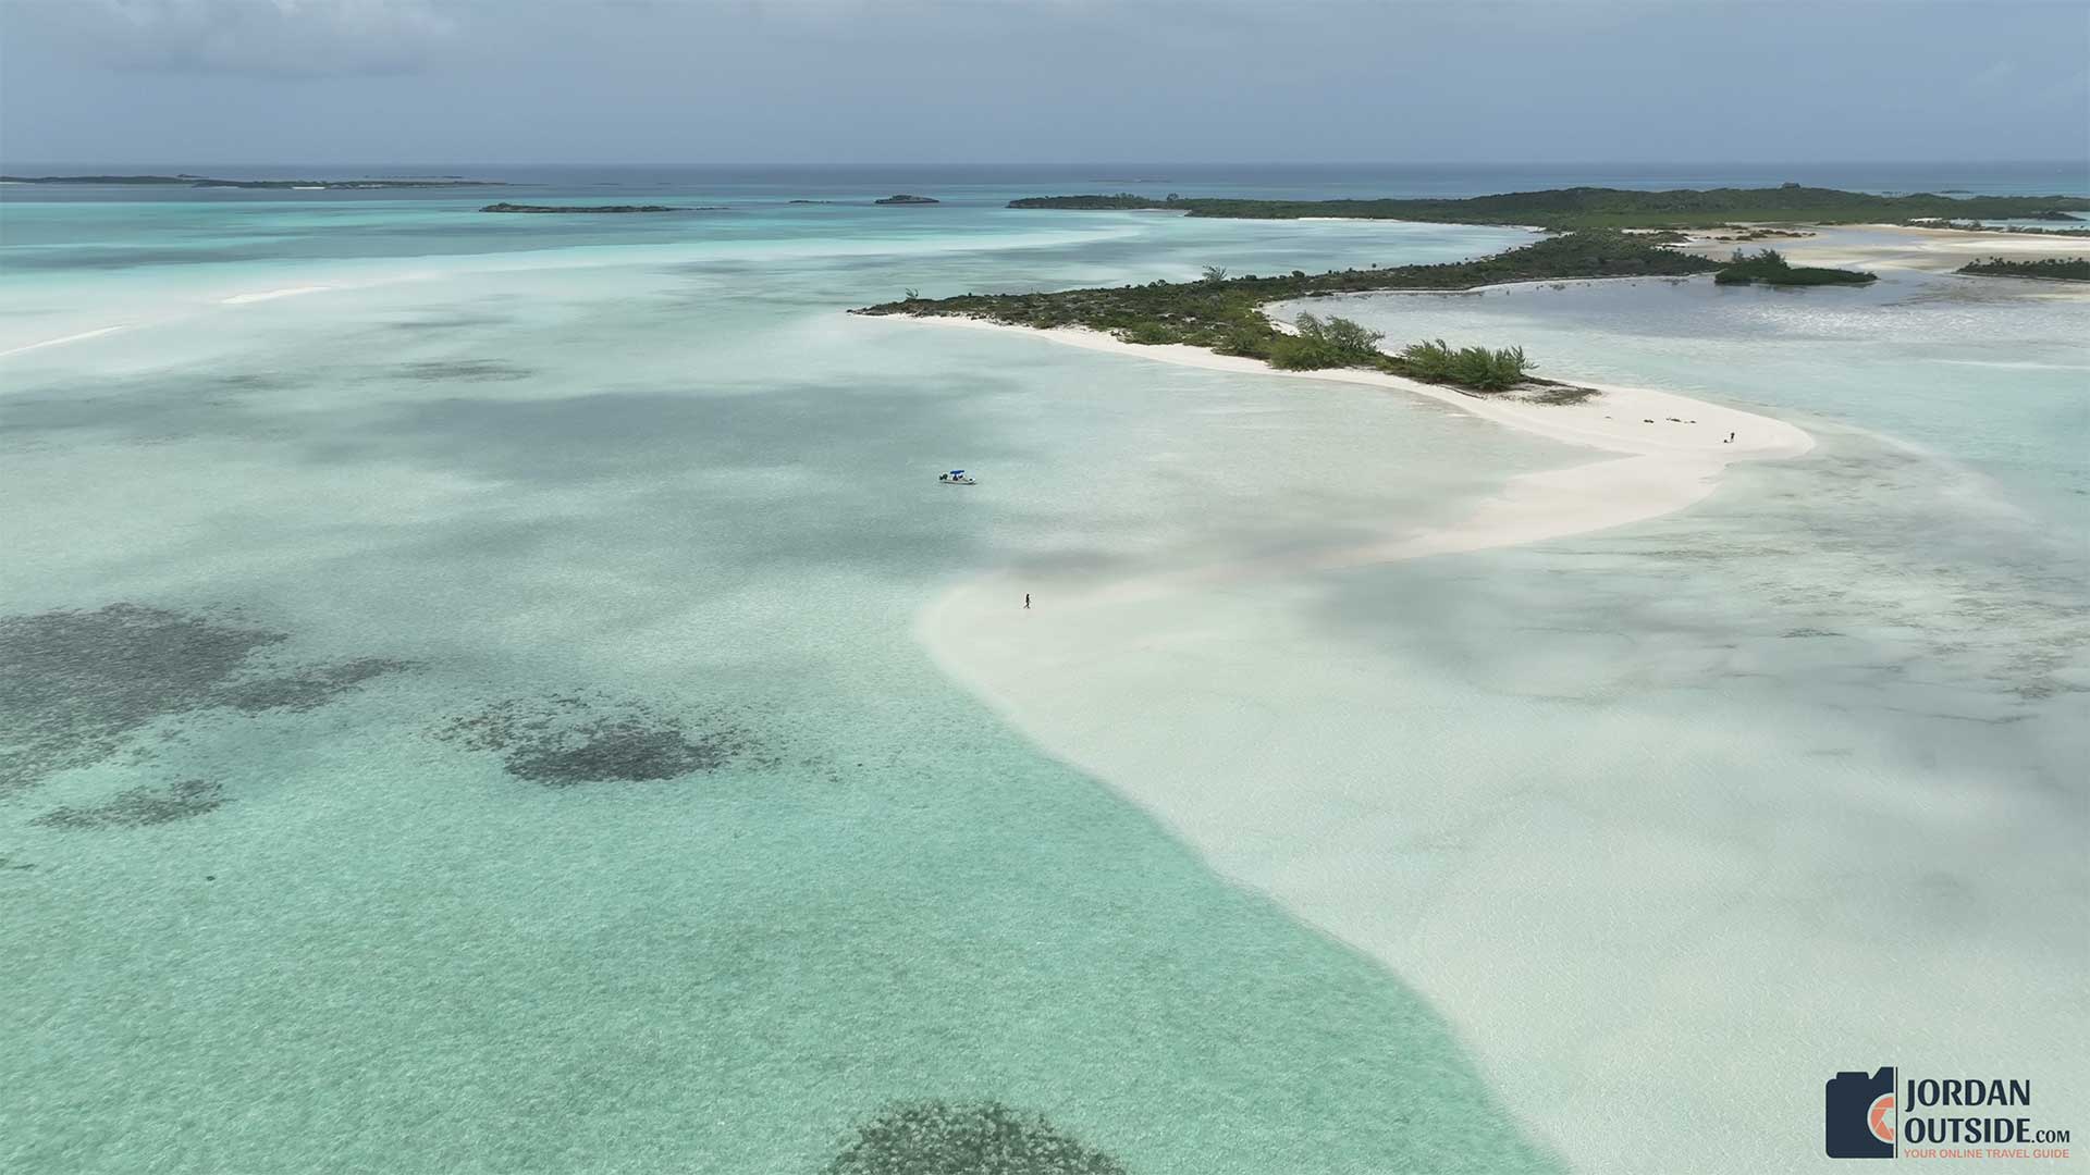
M 1124 1165 L 1001 1102 L 886 1106 L 828 1175 L 1127 1175 Z

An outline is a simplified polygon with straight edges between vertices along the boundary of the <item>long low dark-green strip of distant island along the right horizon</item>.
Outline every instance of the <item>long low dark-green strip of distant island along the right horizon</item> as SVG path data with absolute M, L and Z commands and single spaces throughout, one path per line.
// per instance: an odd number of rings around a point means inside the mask
M 1170 209 L 1189 215 L 1237 220 L 1296 220 L 1344 215 L 1365 220 L 1423 220 L 1436 224 L 1530 224 L 1538 228 L 1720 228 L 1733 222 L 1768 224 L 1898 224 L 1912 217 L 2040 217 L 2090 209 L 2084 197 L 1940 197 L 1917 192 L 1877 197 L 1835 188 L 1678 188 L 1632 192 L 1624 188 L 1553 188 L 1505 192 L 1463 201 L 1235 201 L 1089 194 L 1030 197 L 1012 209 Z

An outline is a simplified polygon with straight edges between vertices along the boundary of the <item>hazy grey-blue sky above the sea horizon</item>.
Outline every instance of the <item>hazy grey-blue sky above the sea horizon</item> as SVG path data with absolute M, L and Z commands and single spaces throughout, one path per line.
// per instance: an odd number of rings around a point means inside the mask
M 0 163 L 2084 157 L 2084 0 L 0 0 Z

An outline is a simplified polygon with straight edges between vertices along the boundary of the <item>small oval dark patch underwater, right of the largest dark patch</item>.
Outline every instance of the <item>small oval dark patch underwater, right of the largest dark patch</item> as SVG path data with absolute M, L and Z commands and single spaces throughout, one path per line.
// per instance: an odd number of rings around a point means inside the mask
M 729 725 L 692 734 L 650 707 L 579 696 L 497 702 L 454 719 L 437 738 L 493 751 L 510 776 L 548 786 L 673 780 L 752 751 Z

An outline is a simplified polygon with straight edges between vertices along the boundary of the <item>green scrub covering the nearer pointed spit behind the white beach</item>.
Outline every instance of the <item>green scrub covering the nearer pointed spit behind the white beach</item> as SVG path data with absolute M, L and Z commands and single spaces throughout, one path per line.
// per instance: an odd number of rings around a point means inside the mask
M 984 318 L 1035 328 L 1087 326 L 1116 335 L 1127 343 L 1187 343 L 1210 347 L 1223 355 L 1264 360 L 1287 370 L 1373 366 L 1427 383 L 1501 391 L 1513 383 L 1530 381 L 1530 362 L 1519 349 L 1467 347 L 1450 351 L 1444 362 L 1438 362 L 1434 351 L 1423 351 L 1419 360 L 1411 360 L 1407 353 L 1379 351 L 1377 332 L 1344 318 L 1302 314 L 1298 332 L 1287 335 L 1264 318 L 1262 305 L 1340 293 L 1469 291 L 1503 282 L 1563 278 L 1691 276 L 1718 268 L 1718 261 L 1662 249 L 1645 236 L 1588 230 L 1442 266 L 1388 266 L 1327 274 L 1294 270 L 1273 278 L 1256 274 L 1229 278 L 1225 270 L 1208 266 L 1191 282 L 1147 282 L 1141 286 L 968 293 L 943 299 L 924 299 L 915 291 L 907 291 L 903 301 L 869 305 L 855 314 Z

